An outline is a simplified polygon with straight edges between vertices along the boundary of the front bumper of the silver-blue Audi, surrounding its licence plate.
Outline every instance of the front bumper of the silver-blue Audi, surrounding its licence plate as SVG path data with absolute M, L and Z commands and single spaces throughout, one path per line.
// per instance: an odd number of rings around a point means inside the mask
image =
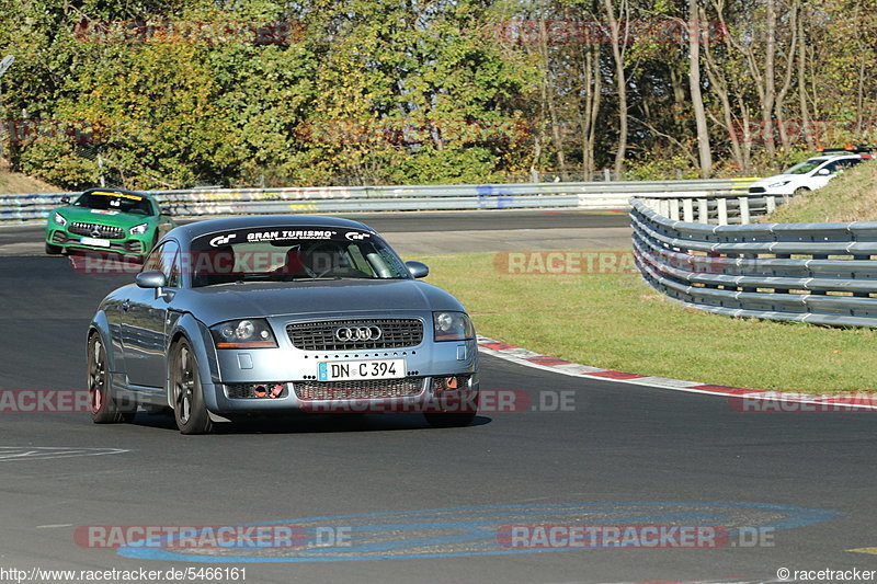
M 215 351 L 218 375 L 204 383 L 217 415 L 474 411 L 478 397 L 476 341 L 425 342 L 417 347 L 332 354 L 281 346 Z M 406 377 L 318 381 L 321 360 L 402 358 Z

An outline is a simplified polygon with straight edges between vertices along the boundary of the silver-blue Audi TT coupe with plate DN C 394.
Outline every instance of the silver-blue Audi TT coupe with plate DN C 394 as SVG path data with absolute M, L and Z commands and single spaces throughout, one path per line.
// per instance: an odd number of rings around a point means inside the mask
M 95 423 L 173 410 L 184 434 L 288 413 L 475 417 L 466 310 L 369 227 L 316 216 L 213 219 L 168 232 L 88 331 Z

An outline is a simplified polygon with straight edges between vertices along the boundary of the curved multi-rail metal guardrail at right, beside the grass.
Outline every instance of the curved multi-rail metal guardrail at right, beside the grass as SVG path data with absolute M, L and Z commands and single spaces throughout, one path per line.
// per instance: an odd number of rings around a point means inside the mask
M 683 305 L 731 317 L 877 327 L 877 222 L 709 226 L 634 199 L 642 277 Z

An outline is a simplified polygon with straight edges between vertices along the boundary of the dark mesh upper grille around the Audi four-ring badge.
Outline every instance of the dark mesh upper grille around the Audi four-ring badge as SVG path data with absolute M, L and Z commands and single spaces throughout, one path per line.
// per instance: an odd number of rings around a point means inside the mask
M 380 337 L 371 341 L 341 341 L 340 328 L 377 327 Z M 419 345 L 423 340 L 423 322 L 418 319 L 358 319 L 322 322 L 297 322 L 286 327 L 293 346 L 304 351 L 350 351 L 362 348 L 401 348 Z

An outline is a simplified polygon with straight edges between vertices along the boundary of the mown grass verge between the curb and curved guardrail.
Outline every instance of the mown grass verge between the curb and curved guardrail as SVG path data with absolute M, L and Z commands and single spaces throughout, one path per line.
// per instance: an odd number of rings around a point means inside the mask
M 875 163 L 877 167 L 877 163 Z M 616 252 L 617 253 L 617 252 Z M 508 274 L 497 254 L 417 257 L 479 334 L 576 363 L 778 391 L 874 391 L 877 331 L 685 309 L 633 274 Z

